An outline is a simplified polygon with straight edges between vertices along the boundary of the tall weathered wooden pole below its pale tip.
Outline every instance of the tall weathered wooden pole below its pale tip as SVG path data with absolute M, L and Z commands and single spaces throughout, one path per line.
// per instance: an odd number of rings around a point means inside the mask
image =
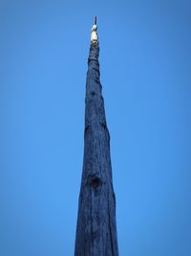
M 99 46 L 91 45 L 86 81 L 84 160 L 74 256 L 117 256 L 116 198 L 110 135 L 99 81 Z

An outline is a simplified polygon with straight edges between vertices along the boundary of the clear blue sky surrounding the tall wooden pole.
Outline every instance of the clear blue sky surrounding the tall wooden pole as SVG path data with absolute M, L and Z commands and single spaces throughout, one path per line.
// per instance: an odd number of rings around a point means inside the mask
M 95 14 L 120 256 L 190 256 L 186 0 L 0 1 L 0 255 L 74 255 Z

